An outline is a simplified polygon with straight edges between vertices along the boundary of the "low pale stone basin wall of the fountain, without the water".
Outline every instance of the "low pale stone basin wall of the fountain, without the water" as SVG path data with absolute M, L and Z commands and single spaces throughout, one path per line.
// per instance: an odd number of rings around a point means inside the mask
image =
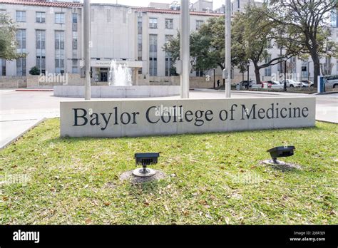
M 83 98 L 84 86 L 54 86 L 54 96 Z M 91 86 L 92 98 L 153 98 L 180 95 L 180 86 Z

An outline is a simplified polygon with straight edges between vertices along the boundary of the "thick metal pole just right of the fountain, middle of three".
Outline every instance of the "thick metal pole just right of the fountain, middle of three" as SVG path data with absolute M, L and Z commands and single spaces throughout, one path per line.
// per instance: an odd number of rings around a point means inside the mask
M 189 98 L 190 76 L 190 12 L 189 0 L 180 1 L 180 59 L 182 71 L 180 74 L 181 98 Z

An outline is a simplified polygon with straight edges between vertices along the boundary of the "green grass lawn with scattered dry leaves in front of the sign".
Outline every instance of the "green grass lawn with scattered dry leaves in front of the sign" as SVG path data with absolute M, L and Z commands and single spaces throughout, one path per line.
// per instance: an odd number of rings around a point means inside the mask
M 267 149 L 295 145 L 282 171 Z M 338 125 L 146 138 L 59 138 L 46 120 L 0 151 L 0 224 L 337 224 Z M 130 185 L 134 153 L 166 179 Z M 26 175 L 26 183 L 14 182 Z M 18 182 L 18 181 L 16 181 Z

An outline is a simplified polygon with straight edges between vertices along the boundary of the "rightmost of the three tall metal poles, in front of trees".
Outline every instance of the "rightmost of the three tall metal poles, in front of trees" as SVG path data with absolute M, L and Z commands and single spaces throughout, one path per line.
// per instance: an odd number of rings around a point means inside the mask
M 225 97 L 231 97 L 231 0 L 225 0 Z

